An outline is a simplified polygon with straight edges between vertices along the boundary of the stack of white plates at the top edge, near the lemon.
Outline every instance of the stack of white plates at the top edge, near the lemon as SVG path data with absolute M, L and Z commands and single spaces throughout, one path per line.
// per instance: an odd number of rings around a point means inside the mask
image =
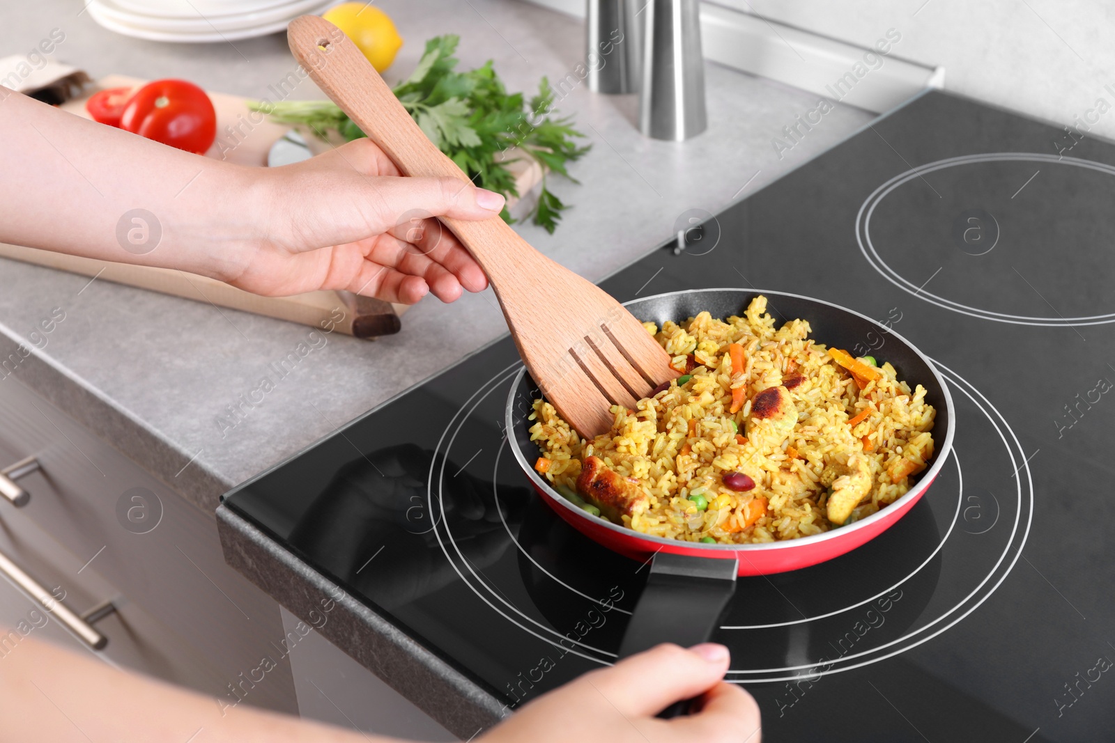
M 152 41 L 232 41 L 283 31 L 304 13 L 341 0 L 90 0 L 94 20 Z

